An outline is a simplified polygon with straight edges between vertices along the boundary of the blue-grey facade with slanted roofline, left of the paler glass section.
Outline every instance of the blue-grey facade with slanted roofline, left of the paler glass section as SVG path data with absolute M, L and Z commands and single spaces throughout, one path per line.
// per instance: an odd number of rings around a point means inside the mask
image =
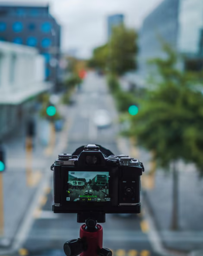
M 139 75 L 148 73 L 147 60 L 163 55 L 161 42 L 178 46 L 179 0 L 164 0 L 143 21 L 139 31 Z

